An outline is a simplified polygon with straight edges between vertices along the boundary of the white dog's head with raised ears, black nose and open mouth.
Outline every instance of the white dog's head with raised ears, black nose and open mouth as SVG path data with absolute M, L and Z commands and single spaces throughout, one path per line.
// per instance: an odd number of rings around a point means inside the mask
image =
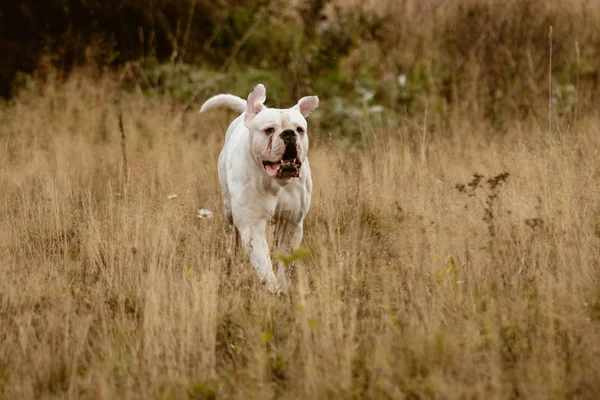
M 317 96 L 303 97 L 288 109 L 267 108 L 265 87 L 248 96 L 244 123 L 250 131 L 252 152 L 273 178 L 299 178 L 308 154 L 308 126 L 304 117 L 319 105 Z

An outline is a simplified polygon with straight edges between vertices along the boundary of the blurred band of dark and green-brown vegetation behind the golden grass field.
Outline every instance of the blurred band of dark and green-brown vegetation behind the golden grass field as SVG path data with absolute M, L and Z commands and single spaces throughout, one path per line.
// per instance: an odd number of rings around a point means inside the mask
M 8 98 L 32 75 L 125 67 L 145 93 L 184 103 L 258 81 L 281 106 L 315 93 L 341 130 L 425 112 L 502 128 L 549 100 L 556 118 L 594 108 L 600 2 L 5 1 L 0 50 Z

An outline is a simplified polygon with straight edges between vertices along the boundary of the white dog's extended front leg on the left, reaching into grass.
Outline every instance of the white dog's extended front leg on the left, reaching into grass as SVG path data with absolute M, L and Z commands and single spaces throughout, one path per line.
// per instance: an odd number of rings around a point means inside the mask
M 247 223 L 238 227 L 242 243 L 250 256 L 250 264 L 256 270 L 261 281 L 266 281 L 267 289 L 273 293 L 279 291 L 279 284 L 269 254 L 269 244 L 265 237 L 266 222 Z

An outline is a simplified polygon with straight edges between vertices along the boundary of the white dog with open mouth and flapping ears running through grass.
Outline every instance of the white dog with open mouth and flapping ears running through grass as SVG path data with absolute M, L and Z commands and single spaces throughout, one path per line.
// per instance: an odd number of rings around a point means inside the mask
M 220 94 L 208 99 L 200 112 L 227 107 L 241 113 L 229 125 L 219 156 L 225 218 L 237 227 L 259 278 L 270 291 L 279 292 L 288 286 L 286 266 L 279 261 L 276 277 L 267 223 L 277 224 L 280 254 L 298 248 L 312 192 L 304 117 L 318 107 L 319 98 L 303 97 L 289 109 L 267 108 L 265 100 L 265 87 L 259 84 L 248 101 Z

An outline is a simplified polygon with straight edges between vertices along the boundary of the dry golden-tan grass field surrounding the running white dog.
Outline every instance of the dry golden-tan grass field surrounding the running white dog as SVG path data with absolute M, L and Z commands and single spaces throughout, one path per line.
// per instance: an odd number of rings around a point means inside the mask
M 352 155 L 313 132 L 311 253 L 277 298 L 226 255 L 228 117 L 121 94 L 125 185 L 114 94 L 1 111 L 0 397 L 600 397 L 598 118 Z

